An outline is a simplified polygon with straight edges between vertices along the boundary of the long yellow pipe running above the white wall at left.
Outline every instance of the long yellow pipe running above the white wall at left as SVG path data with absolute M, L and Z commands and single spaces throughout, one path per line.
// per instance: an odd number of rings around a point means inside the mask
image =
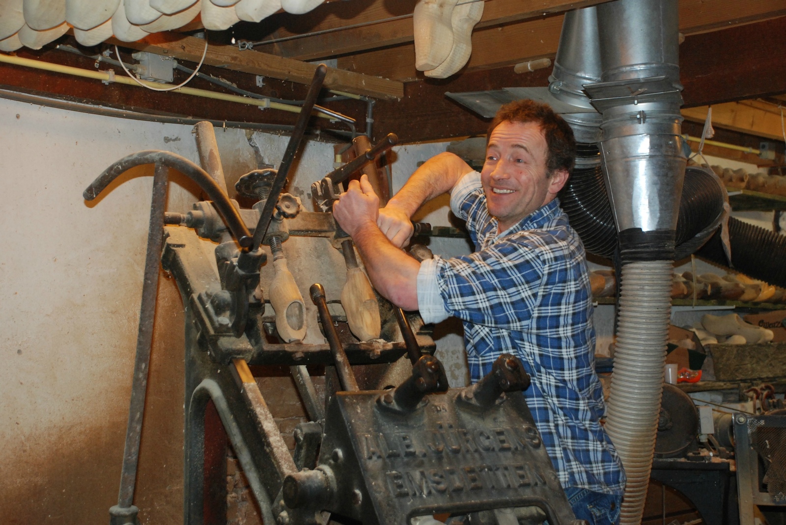
M 110 78 L 107 71 L 91 71 L 89 69 L 80 69 L 79 67 L 64 66 L 61 64 L 52 64 L 51 62 L 43 62 L 42 60 L 31 60 L 29 58 L 14 57 L 0 53 L 0 62 L 6 64 L 14 64 L 17 66 L 33 67 L 35 69 L 42 69 L 43 71 L 53 71 L 54 73 L 63 73 L 65 75 L 74 75 L 84 78 L 94 78 L 101 80 L 101 82 L 117 82 L 127 86 L 138 86 L 132 78 L 126 75 L 112 75 Z M 160 84 L 159 82 L 150 82 L 148 80 L 140 80 L 143 84 L 155 88 L 173 87 L 171 84 Z M 141 86 L 140 86 L 141 87 Z M 281 111 L 289 111 L 290 113 L 299 113 L 299 106 L 291 106 L 289 104 L 281 104 L 281 102 L 270 102 L 269 99 L 255 99 L 249 97 L 240 97 L 239 95 L 228 95 L 226 93 L 216 93 L 215 91 L 208 91 L 208 89 L 196 89 L 189 87 L 181 87 L 173 89 L 172 92 L 180 92 L 185 95 L 193 95 L 194 97 L 212 98 L 215 100 L 226 100 L 228 102 L 237 102 L 239 104 L 250 104 L 252 106 L 259 106 L 260 108 L 273 108 L 280 109 Z M 319 117 L 330 118 L 330 115 L 325 115 L 321 111 L 316 111 L 314 115 Z

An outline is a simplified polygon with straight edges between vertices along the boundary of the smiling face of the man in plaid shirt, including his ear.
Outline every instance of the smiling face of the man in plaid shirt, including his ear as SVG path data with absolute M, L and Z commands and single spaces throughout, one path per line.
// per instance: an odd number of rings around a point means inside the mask
M 551 202 L 562 189 L 567 171 L 547 177 L 547 155 L 545 136 L 534 122 L 502 122 L 491 132 L 480 180 L 499 232 Z

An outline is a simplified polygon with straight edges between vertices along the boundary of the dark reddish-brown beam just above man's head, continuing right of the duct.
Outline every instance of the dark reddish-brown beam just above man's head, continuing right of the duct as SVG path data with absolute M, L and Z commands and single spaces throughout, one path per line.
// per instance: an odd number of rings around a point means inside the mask
M 773 38 L 784 34 L 786 17 L 685 38 L 680 72 L 686 106 L 786 93 L 786 62 L 773 58 L 786 57 L 786 39 Z M 407 143 L 485 133 L 489 121 L 446 97 L 446 92 L 547 86 L 550 72 L 516 75 L 512 67 L 500 67 L 406 82 L 401 102 L 376 104 L 375 135 L 398 133 Z

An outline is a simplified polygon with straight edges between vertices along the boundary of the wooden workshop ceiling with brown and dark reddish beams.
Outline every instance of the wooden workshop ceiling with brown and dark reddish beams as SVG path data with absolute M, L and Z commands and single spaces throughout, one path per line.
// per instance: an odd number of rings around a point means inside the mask
M 208 0 L 204 0 L 207 2 Z M 14 3 L 14 2 L 10 2 Z M 21 3 L 21 2 L 16 2 Z M 460 0 L 459 4 L 465 3 Z M 325 86 L 377 100 L 374 136 L 399 133 L 402 141 L 434 140 L 484 133 L 487 119 L 473 115 L 445 96 L 446 92 L 545 86 L 551 67 L 516 73 L 516 64 L 553 59 L 559 42 L 564 12 L 602 2 L 585 0 L 486 0 L 483 15 L 472 31 L 472 55 L 467 64 L 448 78 L 428 78 L 415 67 L 413 10 L 416 0 L 348 0 L 325 2 L 309 13 L 275 13 L 259 23 L 239 22 L 226 31 L 210 31 L 204 71 L 219 75 L 237 86 L 272 92 L 280 97 L 302 97 L 310 82 L 315 60 L 330 62 Z M 0 17 L 3 5 L 0 0 Z M 680 0 L 681 77 L 686 108 L 737 100 L 764 98 L 761 104 L 777 108 L 786 93 L 786 0 Z M 208 24 L 205 24 L 208 25 Z M 199 31 L 197 17 L 178 31 Z M 74 30 L 71 30 L 71 35 Z M 108 43 L 156 53 L 177 60 L 199 62 L 204 40 L 191 33 L 170 31 L 147 36 L 138 42 Z M 72 36 L 65 35 L 61 41 Z M 54 44 L 39 51 L 19 49 L 17 55 L 75 67 L 91 67 L 92 60 L 57 52 Z M 70 41 L 69 41 L 70 42 Z M 105 46 L 105 45 L 104 45 Z M 241 49 L 246 48 L 246 49 Z M 97 49 L 83 49 L 96 54 Z M 0 56 L 2 59 L 2 56 Z M 187 64 L 193 67 L 193 64 Z M 217 68 L 221 69 L 217 69 Z M 522 69 L 520 67 L 519 69 Z M 222 71 L 223 70 L 223 71 Z M 14 73 L 12 75 L 12 73 Z M 122 74 L 122 71 L 120 71 Z M 256 76 L 266 77 L 263 87 Z M 278 80 L 273 80 L 278 79 Z M 200 86 L 200 81 L 193 81 Z M 98 82 L 69 78 L 56 72 L 30 75 L 23 66 L 0 63 L 0 88 L 108 104 L 136 111 L 163 111 L 241 122 L 288 122 L 291 115 L 275 111 L 249 111 L 224 101 L 178 102 L 182 94 L 133 94 L 133 86 L 96 86 Z M 220 89 L 211 86 L 211 89 Z M 759 103 L 757 103 L 759 104 Z M 362 131 L 365 107 L 343 102 L 328 104 L 359 122 Z M 751 104 L 748 104 L 751 106 Z M 769 114 L 773 114 L 769 108 Z M 755 110 L 757 108 L 746 109 Z M 767 108 L 759 107 L 768 112 Z M 697 119 L 700 110 L 686 115 Z M 706 114 L 706 111 L 704 111 Z M 741 115 L 741 113 L 740 113 Z M 747 118 L 747 117 L 745 117 Z M 751 136 L 774 138 L 774 117 L 758 133 L 755 118 L 731 127 Z M 763 122 L 758 118 L 758 122 Z M 330 126 L 325 124 L 325 126 Z

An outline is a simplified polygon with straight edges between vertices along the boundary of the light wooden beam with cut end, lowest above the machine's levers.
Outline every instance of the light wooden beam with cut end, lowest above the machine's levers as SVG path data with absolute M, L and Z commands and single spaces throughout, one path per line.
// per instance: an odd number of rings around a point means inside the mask
M 107 42 L 195 63 L 200 62 L 204 52 L 204 40 L 201 38 L 174 33 L 158 33 L 138 42 L 119 42 L 115 38 L 110 38 Z M 310 84 L 311 78 L 314 77 L 314 70 L 317 68 L 317 64 L 307 64 L 291 58 L 250 50 L 241 51 L 236 46 L 212 44 L 208 46 L 204 64 L 299 84 Z M 324 86 L 328 89 L 380 99 L 400 98 L 404 94 L 404 86 L 401 82 L 343 71 L 334 67 L 328 68 Z

